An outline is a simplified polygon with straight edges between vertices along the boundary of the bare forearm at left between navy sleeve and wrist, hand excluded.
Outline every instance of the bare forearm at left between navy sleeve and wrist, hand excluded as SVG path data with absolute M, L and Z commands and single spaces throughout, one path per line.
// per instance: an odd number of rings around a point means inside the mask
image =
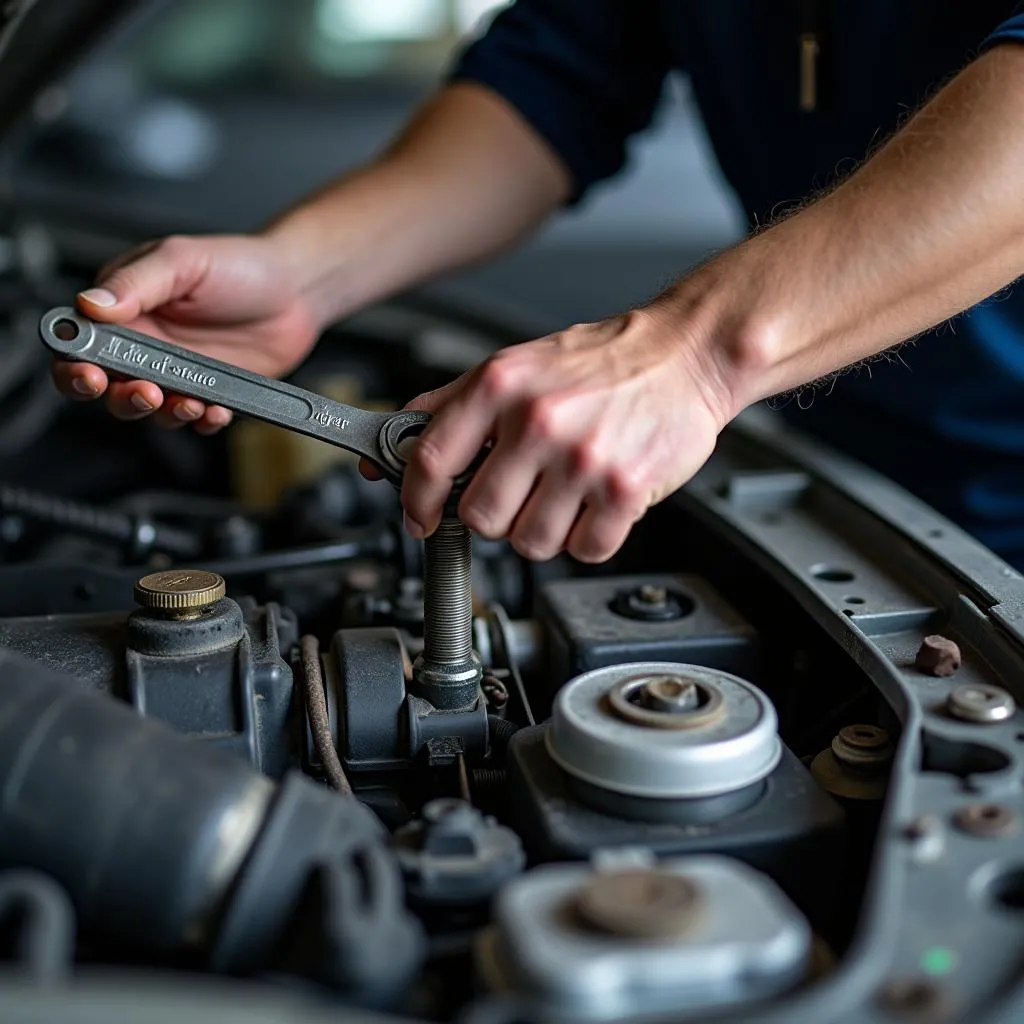
M 561 162 L 511 106 L 479 86 L 454 85 L 380 159 L 266 233 L 328 324 L 501 251 L 569 189 Z

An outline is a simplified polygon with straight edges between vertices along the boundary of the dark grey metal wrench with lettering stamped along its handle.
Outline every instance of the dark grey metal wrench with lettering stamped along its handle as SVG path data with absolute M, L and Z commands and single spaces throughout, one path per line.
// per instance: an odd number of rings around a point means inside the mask
M 410 441 L 430 420 L 429 413 L 413 410 L 373 413 L 345 406 L 139 331 L 96 323 L 69 306 L 45 313 L 39 333 L 43 344 L 62 359 L 152 381 L 177 394 L 336 444 L 375 463 L 392 483 L 401 480 Z M 458 484 L 464 482 L 460 478 Z

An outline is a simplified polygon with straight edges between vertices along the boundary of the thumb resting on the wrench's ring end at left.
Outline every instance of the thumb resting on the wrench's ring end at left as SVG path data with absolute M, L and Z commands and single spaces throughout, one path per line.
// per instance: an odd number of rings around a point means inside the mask
M 96 287 L 79 293 L 78 307 L 93 319 L 125 324 L 184 298 L 208 268 L 208 254 L 197 239 L 165 239 L 102 273 Z

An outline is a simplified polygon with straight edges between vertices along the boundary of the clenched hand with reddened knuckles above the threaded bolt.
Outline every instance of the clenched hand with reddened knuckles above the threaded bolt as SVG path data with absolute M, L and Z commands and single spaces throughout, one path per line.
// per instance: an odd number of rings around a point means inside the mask
M 637 310 L 503 349 L 417 398 L 435 415 L 404 474 L 408 528 L 436 528 L 453 479 L 490 442 L 459 504 L 470 528 L 536 560 L 609 558 L 730 418 L 695 350 Z

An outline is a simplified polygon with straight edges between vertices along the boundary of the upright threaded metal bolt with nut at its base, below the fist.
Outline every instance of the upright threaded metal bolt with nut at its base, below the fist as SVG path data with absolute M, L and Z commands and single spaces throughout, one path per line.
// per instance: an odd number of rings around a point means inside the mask
M 483 676 L 473 653 L 473 546 L 454 512 L 424 543 L 423 616 L 417 692 L 444 711 L 473 707 Z

